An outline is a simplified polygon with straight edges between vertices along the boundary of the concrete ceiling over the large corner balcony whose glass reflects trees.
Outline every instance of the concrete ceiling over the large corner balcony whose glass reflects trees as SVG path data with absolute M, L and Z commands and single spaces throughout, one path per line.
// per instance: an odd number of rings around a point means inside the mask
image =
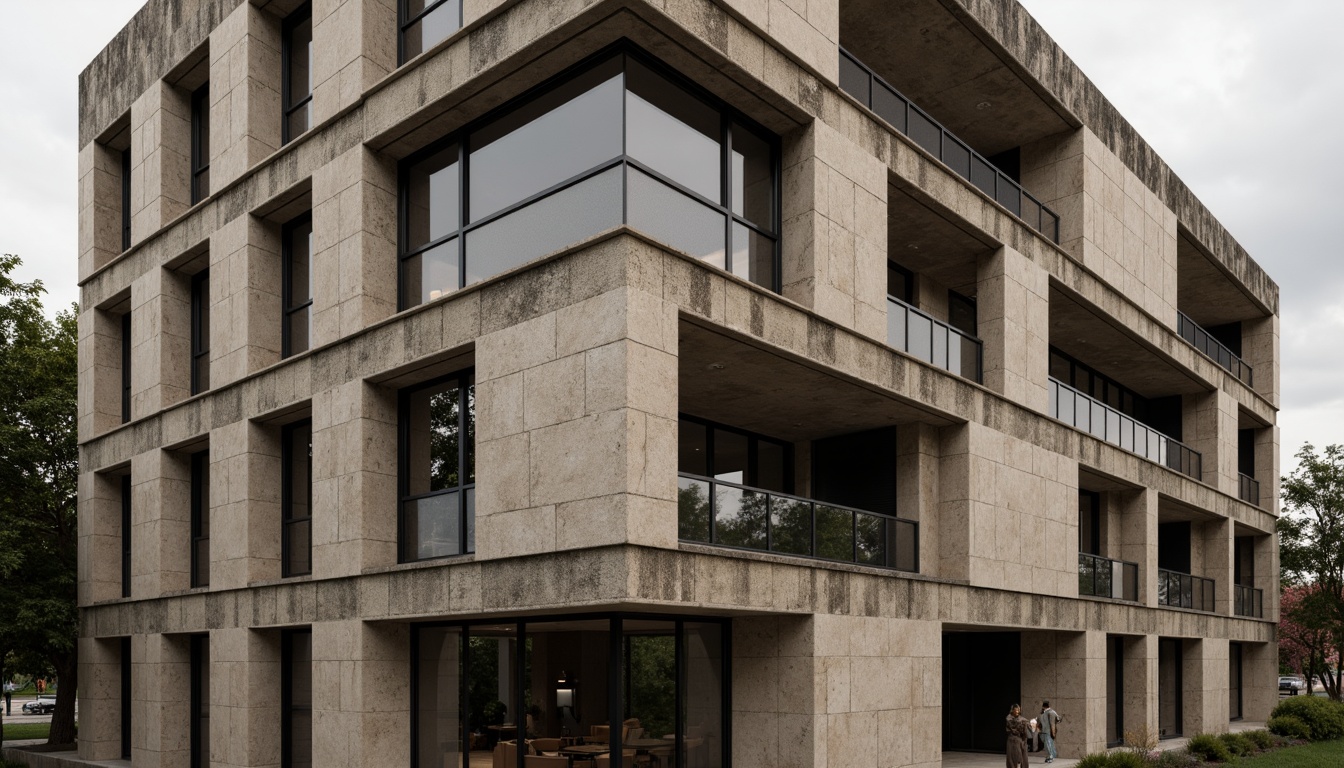
M 722 367 L 718 367 L 722 366 Z M 810 364 L 680 323 L 683 413 L 788 441 L 925 421 L 929 412 Z

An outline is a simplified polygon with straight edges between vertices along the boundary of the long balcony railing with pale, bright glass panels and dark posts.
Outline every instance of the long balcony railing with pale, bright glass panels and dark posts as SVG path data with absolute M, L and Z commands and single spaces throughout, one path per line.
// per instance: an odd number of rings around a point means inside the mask
M 1056 378 L 1050 379 L 1050 416 L 1149 461 L 1184 472 L 1196 480 L 1203 477 L 1203 456 L 1199 451 L 1175 437 L 1167 437 Z

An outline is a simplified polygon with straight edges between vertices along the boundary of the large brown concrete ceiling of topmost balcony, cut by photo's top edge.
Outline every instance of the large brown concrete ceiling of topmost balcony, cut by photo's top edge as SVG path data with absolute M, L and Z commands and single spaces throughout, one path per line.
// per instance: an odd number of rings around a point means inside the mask
M 1071 128 L 938 0 L 845 0 L 840 44 L 981 155 Z

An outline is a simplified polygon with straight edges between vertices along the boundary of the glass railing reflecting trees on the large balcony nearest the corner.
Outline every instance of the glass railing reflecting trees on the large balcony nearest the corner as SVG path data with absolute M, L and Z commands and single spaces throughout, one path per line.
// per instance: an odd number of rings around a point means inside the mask
M 677 475 L 683 541 L 919 572 L 919 523 L 699 475 Z

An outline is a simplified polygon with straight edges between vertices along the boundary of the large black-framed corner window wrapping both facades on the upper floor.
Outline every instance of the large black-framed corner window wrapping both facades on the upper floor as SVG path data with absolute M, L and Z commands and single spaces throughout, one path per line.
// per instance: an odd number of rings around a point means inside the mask
M 622 223 L 777 289 L 775 144 L 634 52 L 562 75 L 403 165 L 401 305 Z

